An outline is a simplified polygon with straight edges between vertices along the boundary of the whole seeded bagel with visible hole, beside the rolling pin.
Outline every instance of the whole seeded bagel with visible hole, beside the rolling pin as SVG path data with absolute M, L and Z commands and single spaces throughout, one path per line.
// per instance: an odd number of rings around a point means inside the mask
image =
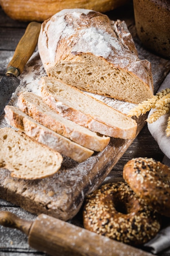
M 126 182 L 108 183 L 88 195 L 84 227 L 129 245 L 141 245 L 160 229 L 157 213 Z

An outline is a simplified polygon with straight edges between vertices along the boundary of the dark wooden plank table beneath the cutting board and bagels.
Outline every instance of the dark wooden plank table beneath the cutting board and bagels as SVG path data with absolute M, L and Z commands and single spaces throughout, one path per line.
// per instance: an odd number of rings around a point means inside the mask
M 154 74 L 154 82 L 157 83 L 157 90 L 163 80 L 170 72 L 170 61 L 159 58 L 155 55 L 150 57 L 145 49 L 140 45 L 139 39 L 137 38 L 135 31 L 135 22 L 133 17 L 133 6 L 132 3 L 126 7 L 119 8 L 118 10 L 110 11 L 108 16 L 113 20 L 119 18 L 125 20 L 132 36 L 137 44 L 137 49 L 142 56 L 148 58 L 152 63 L 152 66 L 157 66 L 157 72 Z M 11 60 L 15 47 L 17 46 L 20 38 L 24 34 L 28 23 L 14 21 L 9 18 L 2 9 L 0 9 L 0 79 L 6 72 L 6 67 Z M 160 67 L 160 68 L 159 68 Z M 163 67 L 163 71 L 161 69 Z M 114 166 L 110 172 L 110 177 L 115 181 L 122 179 L 122 169 L 124 164 L 132 157 L 153 157 L 158 161 L 162 161 L 164 155 L 159 149 L 157 142 L 153 139 L 152 135 L 148 131 L 147 125 L 141 130 L 137 138 L 130 145 L 128 150 L 119 159 L 119 162 Z M 11 204 L 5 200 L 0 200 L 0 211 L 11 211 L 16 213 L 21 218 L 27 220 L 34 220 L 35 215 L 21 209 L 20 207 Z M 74 225 L 82 226 L 82 215 L 81 211 L 71 221 Z M 40 256 L 46 255 L 41 252 L 37 252 L 28 245 L 27 236 L 21 231 L 4 228 L 0 226 L 0 256 Z M 170 250 L 159 253 L 160 256 L 170 255 Z

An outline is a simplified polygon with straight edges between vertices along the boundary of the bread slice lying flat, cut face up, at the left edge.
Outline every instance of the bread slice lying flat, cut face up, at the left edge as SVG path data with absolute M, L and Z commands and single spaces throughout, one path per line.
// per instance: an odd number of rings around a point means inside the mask
M 62 155 L 37 143 L 24 132 L 13 128 L 0 129 L 0 167 L 20 179 L 42 179 L 56 173 Z

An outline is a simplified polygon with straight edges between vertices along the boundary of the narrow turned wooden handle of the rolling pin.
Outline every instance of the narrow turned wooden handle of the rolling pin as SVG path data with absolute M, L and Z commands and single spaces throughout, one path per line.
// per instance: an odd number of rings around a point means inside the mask
M 19 229 L 27 236 L 29 235 L 29 230 L 32 223 L 32 221 L 22 220 L 21 218 L 18 218 L 15 214 L 9 211 L 0 211 L 0 225 L 4 227 Z

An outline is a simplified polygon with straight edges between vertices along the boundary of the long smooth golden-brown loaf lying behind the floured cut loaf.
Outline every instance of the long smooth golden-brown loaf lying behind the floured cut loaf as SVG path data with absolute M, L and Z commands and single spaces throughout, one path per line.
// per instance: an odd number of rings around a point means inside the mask
M 129 0 L 0 0 L 5 13 L 14 20 L 44 21 L 62 9 L 85 8 L 106 12 L 126 4 Z

